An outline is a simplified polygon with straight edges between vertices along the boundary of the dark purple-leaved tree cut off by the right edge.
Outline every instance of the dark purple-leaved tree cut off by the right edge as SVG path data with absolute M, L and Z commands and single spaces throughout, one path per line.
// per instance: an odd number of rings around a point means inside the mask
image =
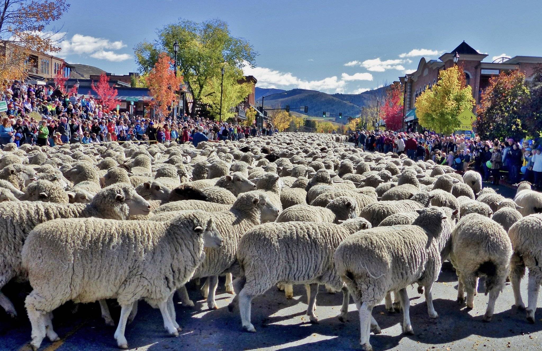
M 534 138 L 542 137 L 542 64 L 534 68 L 534 75 L 529 86 L 530 99 L 522 108 L 525 116 L 525 128 Z

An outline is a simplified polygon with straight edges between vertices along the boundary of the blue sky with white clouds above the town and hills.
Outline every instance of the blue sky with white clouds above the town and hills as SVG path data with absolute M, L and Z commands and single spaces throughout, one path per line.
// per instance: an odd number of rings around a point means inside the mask
M 463 40 L 492 57 L 542 56 L 540 0 L 72 0 L 57 54 L 115 74 L 135 72 L 133 47 L 179 17 L 221 18 L 258 51 L 246 68 L 262 88 L 360 93 L 411 72 Z

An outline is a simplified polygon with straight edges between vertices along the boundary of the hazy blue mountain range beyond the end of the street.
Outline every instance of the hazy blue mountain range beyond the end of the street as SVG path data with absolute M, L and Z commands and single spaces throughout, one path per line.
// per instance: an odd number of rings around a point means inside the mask
M 303 113 L 302 108 L 308 106 L 308 113 L 306 114 L 308 116 L 321 117 L 325 111 L 336 114 L 331 116 L 337 118 L 339 113 L 344 116 L 359 115 L 361 108 L 357 105 L 367 106 L 371 100 L 382 98 L 385 89 L 386 87 L 367 90 L 361 94 L 327 94 L 318 90 L 282 90 L 256 87 L 255 99 L 258 105 L 261 106 L 262 96 L 277 94 L 263 100 L 264 108 L 285 108 L 288 105 L 290 111 Z M 298 109 L 298 107 L 301 107 L 301 109 Z M 346 122 L 346 119 L 344 121 Z

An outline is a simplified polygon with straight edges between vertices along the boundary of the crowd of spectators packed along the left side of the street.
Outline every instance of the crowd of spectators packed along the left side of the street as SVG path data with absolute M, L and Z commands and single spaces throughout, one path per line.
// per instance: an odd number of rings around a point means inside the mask
M 0 148 L 10 142 L 62 145 L 119 142 L 193 142 L 239 140 L 273 134 L 276 128 L 217 123 L 208 118 L 142 116 L 117 113 L 100 105 L 93 96 L 63 93 L 52 86 L 30 85 L 15 80 L 0 86 L 8 111 L 0 126 Z M 196 135 L 197 134 L 197 135 Z

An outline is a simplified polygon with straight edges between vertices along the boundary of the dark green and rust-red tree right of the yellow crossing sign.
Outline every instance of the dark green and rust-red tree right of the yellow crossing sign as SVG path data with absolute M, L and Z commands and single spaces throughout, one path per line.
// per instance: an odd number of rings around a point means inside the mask
M 526 128 L 522 105 L 529 98 L 525 74 L 519 70 L 501 72 L 489 79 L 489 86 L 482 92 L 481 107 L 477 109 L 476 131 L 482 139 L 519 140 L 525 137 Z

